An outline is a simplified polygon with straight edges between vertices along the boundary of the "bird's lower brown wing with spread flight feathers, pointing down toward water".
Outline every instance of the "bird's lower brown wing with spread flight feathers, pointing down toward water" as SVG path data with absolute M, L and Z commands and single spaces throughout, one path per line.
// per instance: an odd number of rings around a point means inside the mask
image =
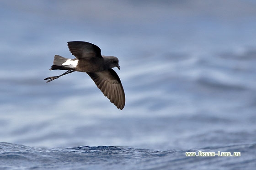
M 101 92 L 121 110 L 124 108 L 125 95 L 117 73 L 112 69 L 103 72 L 86 72 Z

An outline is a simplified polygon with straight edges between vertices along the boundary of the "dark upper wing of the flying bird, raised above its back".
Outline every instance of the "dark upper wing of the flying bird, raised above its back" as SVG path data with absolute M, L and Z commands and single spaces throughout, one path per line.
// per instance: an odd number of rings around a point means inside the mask
M 100 47 L 91 44 L 90 42 L 84 41 L 69 41 L 68 42 L 69 51 L 77 59 L 91 57 L 102 57 Z

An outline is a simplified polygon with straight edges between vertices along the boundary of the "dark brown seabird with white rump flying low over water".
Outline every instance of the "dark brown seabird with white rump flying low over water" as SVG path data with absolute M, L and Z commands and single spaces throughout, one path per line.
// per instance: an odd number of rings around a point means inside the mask
M 122 110 L 125 105 L 123 85 L 117 73 L 112 69 L 117 67 L 120 70 L 118 58 L 102 56 L 101 49 L 90 42 L 69 41 L 67 44 L 69 51 L 75 58 L 69 59 L 55 55 L 53 65 L 49 70 L 68 71 L 59 76 L 47 77 L 44 80 L 51 82 L 72 72 L 86 72 L 104 96 Z

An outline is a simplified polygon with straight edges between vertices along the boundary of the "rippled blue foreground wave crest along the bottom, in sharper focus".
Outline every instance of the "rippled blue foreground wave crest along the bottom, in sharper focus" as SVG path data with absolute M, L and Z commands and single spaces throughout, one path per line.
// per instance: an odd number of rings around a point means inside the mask
M 152 150 L 122 146 L 80 146 L 40 149 L 0 142 L 0 169 L 251 169 L 256 144 L 234 144 L 203 149 Z M 192 157 L 186 153 L 240 152 L 240 157 Z M 218 162 L 218 163 L 217 163 Z

